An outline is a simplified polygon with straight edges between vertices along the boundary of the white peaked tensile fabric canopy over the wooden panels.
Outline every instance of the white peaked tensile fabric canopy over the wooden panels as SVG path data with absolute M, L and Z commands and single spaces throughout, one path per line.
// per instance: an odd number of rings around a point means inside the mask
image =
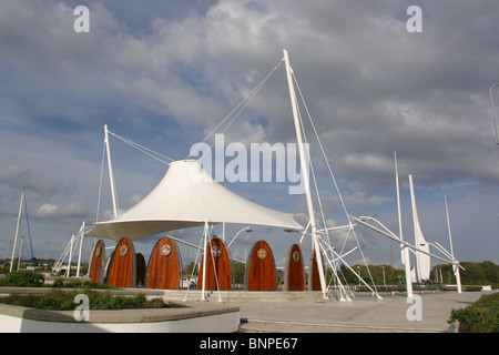
M 136 205 L 108 222 L 94 223 L 86 236 L 139 240 L 207 222 L 303 229 L 289 213 L 267 209 L 228 191 L 196 160 L 176 161 L 157 186 Z

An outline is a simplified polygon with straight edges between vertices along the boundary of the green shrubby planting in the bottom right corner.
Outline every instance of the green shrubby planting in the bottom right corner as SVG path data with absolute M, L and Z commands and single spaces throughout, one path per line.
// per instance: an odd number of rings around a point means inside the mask
M 499 292 L 450 312 L 449 323 L 459 322 L 460 333 L 499 333 Z

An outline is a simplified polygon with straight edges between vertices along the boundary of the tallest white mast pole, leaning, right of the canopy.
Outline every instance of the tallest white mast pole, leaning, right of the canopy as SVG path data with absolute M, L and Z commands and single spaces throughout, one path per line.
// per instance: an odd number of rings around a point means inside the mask
M 307 199 L 308 216 L 310 219 L 312 241 L 313 241 L 315 255 L 316 255 L 316 260 L 317 260 L 317 267 L 318 267 L 318 273 L 319 273 L 319 278 L 320 278 L 320 288 L 323 291 L 323 297 L 327 298 L 327 296 L 326 296 L 326 278 L 324 276 L 323 257 L 320 255 L 320 247 L 319 247 L 317 234 L 316 234 L 317 227 L 315 224 L 314 205 L 312 203 L 310 185 L 309 185 L 309 178 L 308 178 L 308 163 L 309 162 L 307 163 L 307 160 L 305 158 L 305 149 L 304 149 L 304 144 L 303 144 L 302 128 L 301 128 L 299 119 L 298 119 L 298 105 L 296 102 L 295 87 L 293 84 L 293 78 L 292 78 L 293 69 L 291 68 L 291 64 L 289 64 L 289 57 L 287 54 L 287 51 L 285 49 L 283 49 L 283 52 L 284 52 L 284 62 L 286 64 L 286 75 L 287 75 L 287 84 L 289 88 L 289 98 L 291 98 L 291 103 L 292 103 L 292 109 L 293 109 L 293 118 L 295 121 L 296 140 L 298 143 L 298 152 L 299 152 L 299 162 L 302 165 L 303 182 L 304 182 L 305 194 L 306 194 L 306 199 Z

